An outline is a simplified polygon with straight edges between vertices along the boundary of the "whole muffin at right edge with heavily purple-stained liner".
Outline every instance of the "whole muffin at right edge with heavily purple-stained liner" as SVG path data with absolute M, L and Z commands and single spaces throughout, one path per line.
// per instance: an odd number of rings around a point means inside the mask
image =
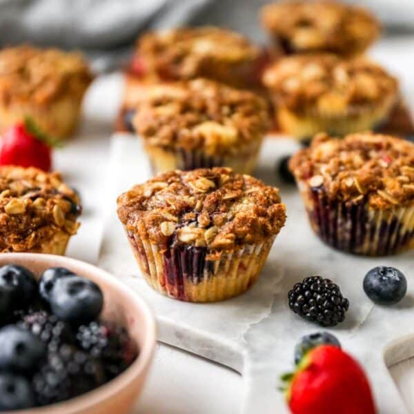
M 414 144 L 326 134 L 290 159 L 315 233 L 339 250 L 390 255 L 414 246 Z

